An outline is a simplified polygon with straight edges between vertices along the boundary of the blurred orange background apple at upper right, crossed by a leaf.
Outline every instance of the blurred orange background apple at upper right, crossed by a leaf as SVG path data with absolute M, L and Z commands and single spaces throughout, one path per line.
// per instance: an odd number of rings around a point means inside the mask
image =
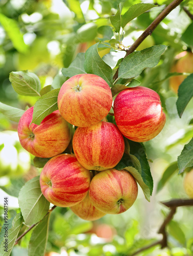
M 179 58 L 176 64 L 172 67 L 171 72 L 178 73 L 192 73 L 193 72 L 193 53 L 191 52 L 181 52 L 176 56 Z M 186 75 L 172 76 L 170 78 L 170 87 L 171 89 L 178 93 L 178 88 L 183 80 L 186 78 Z

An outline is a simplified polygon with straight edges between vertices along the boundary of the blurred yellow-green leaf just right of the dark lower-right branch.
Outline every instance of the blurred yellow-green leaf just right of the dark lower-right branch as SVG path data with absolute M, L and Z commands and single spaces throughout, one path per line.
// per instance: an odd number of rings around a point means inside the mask
M 179 226 L 178 222 L 170 221 L 167 226 L 168 233 L 174 237 L 180 244 L 185 245 L 186 238 L 183 230 Z

